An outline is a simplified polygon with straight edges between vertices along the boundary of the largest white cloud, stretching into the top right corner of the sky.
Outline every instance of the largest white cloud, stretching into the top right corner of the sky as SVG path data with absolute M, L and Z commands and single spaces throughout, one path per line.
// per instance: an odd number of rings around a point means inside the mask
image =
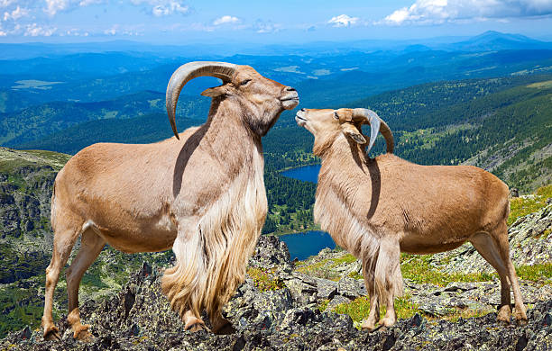
M 416 0 L 380 23 L 438 24 L 514 17 L 551 16 L 551 0 Z

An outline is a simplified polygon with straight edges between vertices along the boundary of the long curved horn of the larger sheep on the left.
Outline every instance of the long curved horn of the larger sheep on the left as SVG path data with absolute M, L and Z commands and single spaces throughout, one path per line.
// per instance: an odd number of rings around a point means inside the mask
M 174 132 L 174 136 L 179 138 L 179 133 L 176 128 L 176 105 L 179 101 L 179 94 L 186 83 L 198 76 L 215 76 L 223 82 L 229 82 L 234 76 L 237 65 L 226 62 L 214 61 L 194 61 L 180 66 L 172 76 L 170 76 L 169 84 L 167 85 L 167 113 L 169 114 L 170 126 Z

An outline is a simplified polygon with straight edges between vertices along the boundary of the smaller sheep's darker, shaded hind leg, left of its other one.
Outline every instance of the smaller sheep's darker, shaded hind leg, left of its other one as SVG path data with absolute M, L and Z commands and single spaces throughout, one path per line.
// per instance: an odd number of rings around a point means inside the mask
M 510 324 L 511 320 L 511 296 L 510 284 L 508 283 L 508 268 L 504 264 L 497 245 L 487 233 L 477 233 L 470 242 L 477 252 L 496 269 L 501 278 L 501 307 L 496 320 Z

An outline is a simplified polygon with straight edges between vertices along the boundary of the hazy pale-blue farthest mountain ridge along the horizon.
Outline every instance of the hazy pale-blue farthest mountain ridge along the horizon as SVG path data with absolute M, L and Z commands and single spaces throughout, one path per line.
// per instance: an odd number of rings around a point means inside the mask
M 225 40 L 225 44 L 227 44 Z M 185 44 L 152 44 L 132 40 L 112 40 L 103 42 L 81 43 L 2 43 L 0 50 L 5 59 L 49 57 L 82 52 L 102 53 L 106 51 L 133 52 L 135 55 L 155 54 L 162 58 L 188 56 L 189 58 L 217 59 L 232 56 L 236 53 L 247 55 L 314 55 L 328 56 L 352 51 L 371 52 L 376 50 L 401 51 L 412 49 L 412 45 L 426 46 L 431 49 L 445 50 L 495 50 L 495 49 L 551 49 L 552 42 L 531 39 L 525 35 L 485 31 L 474 37 L 435 37 L 409 40 L 346 40 L 346 41 L 313 41 L 301 44 L 263 44 L 239 43 L 221 45 L 222 42 L 185 43 Z M 410 48 L 409 48 L 410 47 Z M 421 49 L 421 47 L 420 47 Z

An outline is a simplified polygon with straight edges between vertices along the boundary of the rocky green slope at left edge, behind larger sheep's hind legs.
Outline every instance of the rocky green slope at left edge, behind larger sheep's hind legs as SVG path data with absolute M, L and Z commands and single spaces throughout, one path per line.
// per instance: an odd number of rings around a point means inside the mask
M 25 325 L 40 325 L 44 270 L 50 263 L 53 239 L 51 192 L 57 172 L 69 157 L 0 148 L 0 336 Z M 80 296 L 104 296 L 119 289 L 144 259 L 166 264 L 170 256 L 170 251 L 125 255 L 106 247 L 84 276 Z M 59 284 L 55 298 L 54 313 L 59 316 L 60 309 L 67 309 L 64 284 Z

